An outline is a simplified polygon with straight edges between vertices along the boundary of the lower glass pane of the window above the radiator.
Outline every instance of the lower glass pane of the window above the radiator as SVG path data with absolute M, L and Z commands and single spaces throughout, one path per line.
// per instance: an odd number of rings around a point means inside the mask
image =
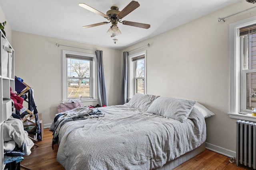
M 247 73 L 247 109 L 256 107 L 256 73 Z

